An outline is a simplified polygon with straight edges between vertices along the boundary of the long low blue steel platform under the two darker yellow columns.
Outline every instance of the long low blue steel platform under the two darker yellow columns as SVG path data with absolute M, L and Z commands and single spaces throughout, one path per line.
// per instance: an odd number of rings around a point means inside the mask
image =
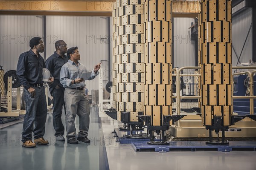
M 256 151 L 256 141 L 230 141 L 229 145 L 211 145 L 205 141 L 171 141 L 169 145 L 151 145 L 147 142 L 132 142 L 132 147 L 136 152 L 155 151 L 169 152 L 176 150 L 218 150 L 222 152 L 230 152 L 232 150 L 251 150 Z

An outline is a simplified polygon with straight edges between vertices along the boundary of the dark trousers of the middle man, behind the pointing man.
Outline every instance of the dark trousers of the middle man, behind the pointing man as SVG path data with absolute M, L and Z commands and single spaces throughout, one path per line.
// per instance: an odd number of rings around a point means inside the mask
M 64 105 L 64 111 L 66 115 L 66 107 L 64 103 L 64 91 L 65 88 L 55 88 L 53 90 L 52 96 L 53 96 L 53 127 L 55 129 L 55 136 L 58 137 L 60 135 L 64 135 L 64 126 L 61 121 L 61 115 L 62 115 L 62 106 Z

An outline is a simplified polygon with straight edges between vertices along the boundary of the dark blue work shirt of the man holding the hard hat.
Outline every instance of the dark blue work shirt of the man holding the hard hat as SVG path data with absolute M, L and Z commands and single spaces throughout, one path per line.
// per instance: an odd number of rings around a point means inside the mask
M 32 49 L 20 54 L 16 72 L 20 84 L 28 89 L 32 85 L 44 83 L 43 68 L 46 68 L 43 57 L 40 54 L 37 57 Z

